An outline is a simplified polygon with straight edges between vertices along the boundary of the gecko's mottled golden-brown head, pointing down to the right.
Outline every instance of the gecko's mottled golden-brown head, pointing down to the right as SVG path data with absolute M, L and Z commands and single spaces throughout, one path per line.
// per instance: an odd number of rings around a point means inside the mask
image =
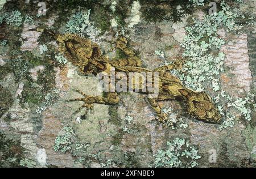
M 220 123 L 221 120 L 220 112 L 218 112 L 218 109 L 205 92 L 200 92 L 189 97 L 188 112 L 204 122 Z

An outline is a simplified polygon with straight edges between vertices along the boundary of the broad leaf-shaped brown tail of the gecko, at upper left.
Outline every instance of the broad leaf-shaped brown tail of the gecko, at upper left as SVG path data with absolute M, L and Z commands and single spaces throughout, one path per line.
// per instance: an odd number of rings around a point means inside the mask
M 65 34 L 57 38 L 59 50 L 67 56 L 68 61 L 73 65 L 84 68 L 84 74 L 92 73 L 94 58 L 100 57 L 100 48 L 89 39 L 78 35 Z

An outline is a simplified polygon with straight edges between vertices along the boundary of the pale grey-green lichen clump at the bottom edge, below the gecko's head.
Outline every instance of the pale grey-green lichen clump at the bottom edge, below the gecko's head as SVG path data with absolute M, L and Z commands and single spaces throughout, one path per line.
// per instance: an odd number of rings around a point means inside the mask
M 167 142 L 167 150 L 159 150 L 155 156 L 153 167 L 196 167 L 201 158 L 195 146 L 185 139 L 176 138 Z

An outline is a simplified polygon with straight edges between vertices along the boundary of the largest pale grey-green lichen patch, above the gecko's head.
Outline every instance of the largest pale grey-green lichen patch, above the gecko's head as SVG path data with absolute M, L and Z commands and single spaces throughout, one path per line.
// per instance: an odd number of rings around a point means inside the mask
M 185 27 L 187 35 L 180 44 L 184 48 L 183 58 L 187 61 L 181 71 L 172 70 L 185 86 L 196 91 L 203 91 L 203 82 L 207 81 L 212 82 L 214 91 L 220 90 L 219 76 L 224 71 L 225 54 L 212 53 L 225 44 L 225 40 L 218 37 L 218 29 L 224 27 L 230 32 L 243 27 L 238 19 L 245 19 L 245 15 L 238 8 L 230 8 L 224 1 L 221 7 L 221 11 L 205 15 L 203 20 L 192 18 L 193 24 Z

